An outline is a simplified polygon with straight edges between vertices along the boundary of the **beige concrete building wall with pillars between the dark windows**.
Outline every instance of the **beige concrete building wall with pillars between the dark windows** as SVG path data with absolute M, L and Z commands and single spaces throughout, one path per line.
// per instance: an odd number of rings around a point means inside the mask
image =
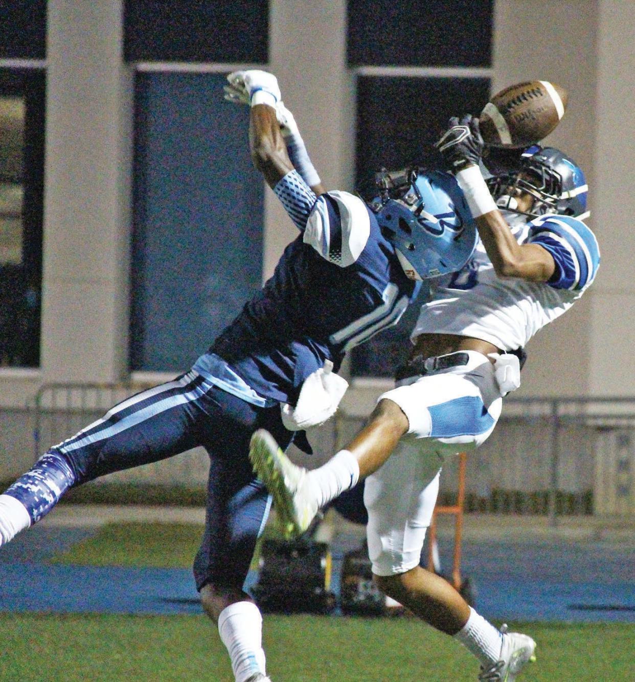
M 132 69 L 122 60 L 122 1 L 49 0 L 48 8 L 42 367 L 0 370 L 0 409 L 12 411 L 45 382 L 119 381 L 128 352 Z M 345 63 L 345 2 L 320 0 L 298 15 L 292 0 L 272 0 L 270 16 L 270 69 L 324 181 L 350 189 L 354 74 Z M 531 342 L 523 395 L 635 394 L 627 371 L 635 288 L 626 274 L 635 252 L 635 136 L 627 125 L 634 26 L 630 0 L 496 3 L 493 90 L 542 78 L 569 91 L 565 119 L 547 141 L 586 171 L 589 222 L 602 249 L 591 291 Z M 268 276 L 294 237 L 269 191 L 265 222 Z M 369 392 L 378 391 L 354 385 L 347 404 L 372 404 Z M 3 460 L 15 462 L 24 439 L 7 429 L 19 420 L 14 412 L 0 419 Z

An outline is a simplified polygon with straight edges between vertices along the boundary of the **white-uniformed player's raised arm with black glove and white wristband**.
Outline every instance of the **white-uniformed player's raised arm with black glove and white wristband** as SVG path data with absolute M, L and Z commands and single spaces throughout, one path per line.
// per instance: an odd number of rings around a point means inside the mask
M 450 119 L 436 147 L 453 168 L 496 274 L 546 282 L 554 273 L 554 259 L 538 244 L 519 244 L 512 235 L 481 174 L 483 144 L 479 120 L 468 115 Z

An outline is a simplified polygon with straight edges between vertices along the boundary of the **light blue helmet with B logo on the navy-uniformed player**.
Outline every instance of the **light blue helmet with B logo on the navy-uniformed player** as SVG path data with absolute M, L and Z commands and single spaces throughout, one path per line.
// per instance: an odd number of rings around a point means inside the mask
M 369 203 L 406 273 L 429 279 L 460 270 L 477 243 L 463 192 L 450 173 L 406 169 L 376 176 Z

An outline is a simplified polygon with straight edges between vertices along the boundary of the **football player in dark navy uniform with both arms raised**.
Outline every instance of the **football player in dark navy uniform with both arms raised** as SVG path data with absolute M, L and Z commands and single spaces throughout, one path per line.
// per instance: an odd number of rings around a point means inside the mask
M 265 428 L 286 448 L 296 431 L 328 419 L 346 387 L 337 375 L 345 351 L 397 323 L 422 278 L 462 267 L 476 231 L 449 174 L 422 176 L 395 201 L 394 216 L 407 218 L 406 241 L 397 218 L 382 228 L 358 196 L 324 192 L 272 74 L 237 72 L 229 81 L 228 95 L 251 104 L 253 161 L 300 235 L 186 374 L 117 404 L 0 495 L 0 544 L 72 486 L 205 447 L 210 474 L 196 585 L 236 681 L 253 682 L 268 679 L 262 617 L 242 588 L 271 498 L 251 469 L 249 439 Z M 442 229 L 431 207 L 442 213 Z

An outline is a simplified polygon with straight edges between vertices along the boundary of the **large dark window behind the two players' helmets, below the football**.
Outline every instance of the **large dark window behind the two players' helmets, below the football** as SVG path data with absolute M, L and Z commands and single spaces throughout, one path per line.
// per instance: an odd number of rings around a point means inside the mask
M 432 145 L 449 117 L 479 113 L 489 94 L 488 78 L 358 78 L 356 175 L 363 194 L 382 166 L 438 166 Z M 424 296 L 425 291 L 396 327 L 353 350 L 354 376 L 393 376 L 410 352 L 408 339 Z

